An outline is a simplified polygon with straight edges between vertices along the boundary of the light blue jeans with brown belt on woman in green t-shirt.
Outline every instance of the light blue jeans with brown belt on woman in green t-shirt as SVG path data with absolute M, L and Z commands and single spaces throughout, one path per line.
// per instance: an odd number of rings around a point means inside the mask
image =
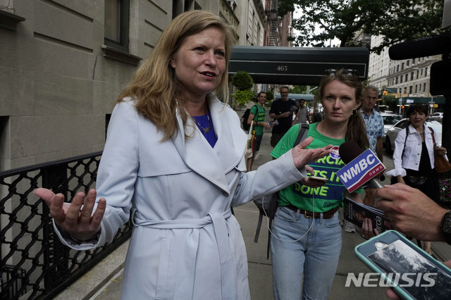
M 301 294 L 302 299 L 327 299 L 341 251 L 339 213 L 329 219 L 323 219 L 322 214 L 321 218 L 305 218 L 299 211 L 281 206 L 272 232 L 274 299 L 301 299 Z M 297 242 L 286 242 L 300 237 Z

